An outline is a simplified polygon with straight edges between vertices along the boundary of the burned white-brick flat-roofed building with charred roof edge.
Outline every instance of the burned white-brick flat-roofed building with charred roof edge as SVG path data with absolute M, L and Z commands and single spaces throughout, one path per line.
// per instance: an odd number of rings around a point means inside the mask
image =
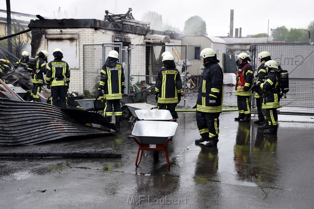
M 32 31 L 31 55 L 35 56 L 39 51 L 47 50 L 50 53 L 48 61 L 51 61 L 53 50 L 61 48 L 64 60 L 71 68 L 69 91 L 83 92 L 93 88 L 110 50 L 119 52 L 119 61 L 123 64 L 126 77 L 130 77 L 134 66 L 139 69 L 138 75 L 149 76 L 152 74 L 151 63 L 158 60 L 160 51 L 154 51 L 151 47 L 140 47 L 141 50 L 133 53 L 130 58 L 129 50 L 136 44 L 159 44 L 164 46 L 162 50 L 167 50 L 165 46 L 168 44 L 181 45 L 182 36 L 174 32 L 152 30 L 149 23 L 134 20 L 130 11 L 131 8 L 124 15 L 110 15 L 106 11 L 103 20 L 44 18 L 31 20 L 29 24 Z M 152 53 L 156 54 L 153 60 Z M 143 78 L 138 76 L 136 79 Z

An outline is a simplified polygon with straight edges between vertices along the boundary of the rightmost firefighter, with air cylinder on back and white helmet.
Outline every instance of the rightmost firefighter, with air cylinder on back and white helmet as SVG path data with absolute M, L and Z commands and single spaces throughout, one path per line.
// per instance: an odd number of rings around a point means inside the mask
M 265 91 L 262 108 L 265 110 L 269 128 L 265 129 L 263 133 L 277 134 L 277 108 L 279 108 L 280 101 L 279 76 L 276 74 L 276 71 L 278 71 L 278 64 L 275 60 L 268 60 L 265 62 L 265 66 L 266 71 L 268 72 L 267 79 L 265 78 L 264 82 L 256 82 L 256 85 Z

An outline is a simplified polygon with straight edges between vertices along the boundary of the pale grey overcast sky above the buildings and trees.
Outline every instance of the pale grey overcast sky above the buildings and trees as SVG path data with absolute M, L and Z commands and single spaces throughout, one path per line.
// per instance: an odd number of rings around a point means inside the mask
M 277 27 L 307 29 L 314 20 L 313 0 L 54 0 L 21 1 L 11 0 L 11 11 L 40 14 L 57 18 L 87 18 L 102 20 L 105 10 L 113 14 L 125 14 L 132 8 L 132 15 L 141 20 L 143 13 L 154 11 L 162 15 L 164 21 L 183 31 L 185 21 L 195 15 L 206 22 L 208 36 L 227 36 L 230 25 L 230 9 L 234 9 L 234 29 L 242 28 L 242 37 L 247 34 L 267 33 Z M 243 3 L 241 3 L 243 2 Z M 1 9 L 6 9 L 3 1 Z M 55 13 L 55 15 L 54 15 Z M 67 16 L 65 15 L 67 13 Z M 234 32 L 235 33 L 235 30 Z

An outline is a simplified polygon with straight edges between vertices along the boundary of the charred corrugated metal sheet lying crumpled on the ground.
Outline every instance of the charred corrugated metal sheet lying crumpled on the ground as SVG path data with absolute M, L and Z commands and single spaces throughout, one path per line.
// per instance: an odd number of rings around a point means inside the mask
M 0 146 L 38 144 L 68 136 L 109 134 L 84 125 L 89 123 L 88 118 L 93 118 L 94 122 L 99 122 L 97 118 L 103 119 L 99 113 L 90 112 L 92 117 L 89 117 L 88 111 L 83 112 L 69 110 L 65 114 L 49 104 L 0 98 Z M 81 114 L 83 119 L 75 121 L 70 118 L 73 114 Z

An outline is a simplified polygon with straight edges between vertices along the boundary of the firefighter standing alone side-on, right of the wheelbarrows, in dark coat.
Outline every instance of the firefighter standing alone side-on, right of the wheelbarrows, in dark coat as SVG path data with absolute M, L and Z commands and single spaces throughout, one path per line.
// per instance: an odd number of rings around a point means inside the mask
M 219 115 L 223 101 L 223 72 L 214 50 L 205 48 L 201 51 L 204 70 L 198 86 L 196 102 L 196 122 L 200 139 L 195 143 L 208 141 L 206 146 L 216 146 L 219 134 Z

